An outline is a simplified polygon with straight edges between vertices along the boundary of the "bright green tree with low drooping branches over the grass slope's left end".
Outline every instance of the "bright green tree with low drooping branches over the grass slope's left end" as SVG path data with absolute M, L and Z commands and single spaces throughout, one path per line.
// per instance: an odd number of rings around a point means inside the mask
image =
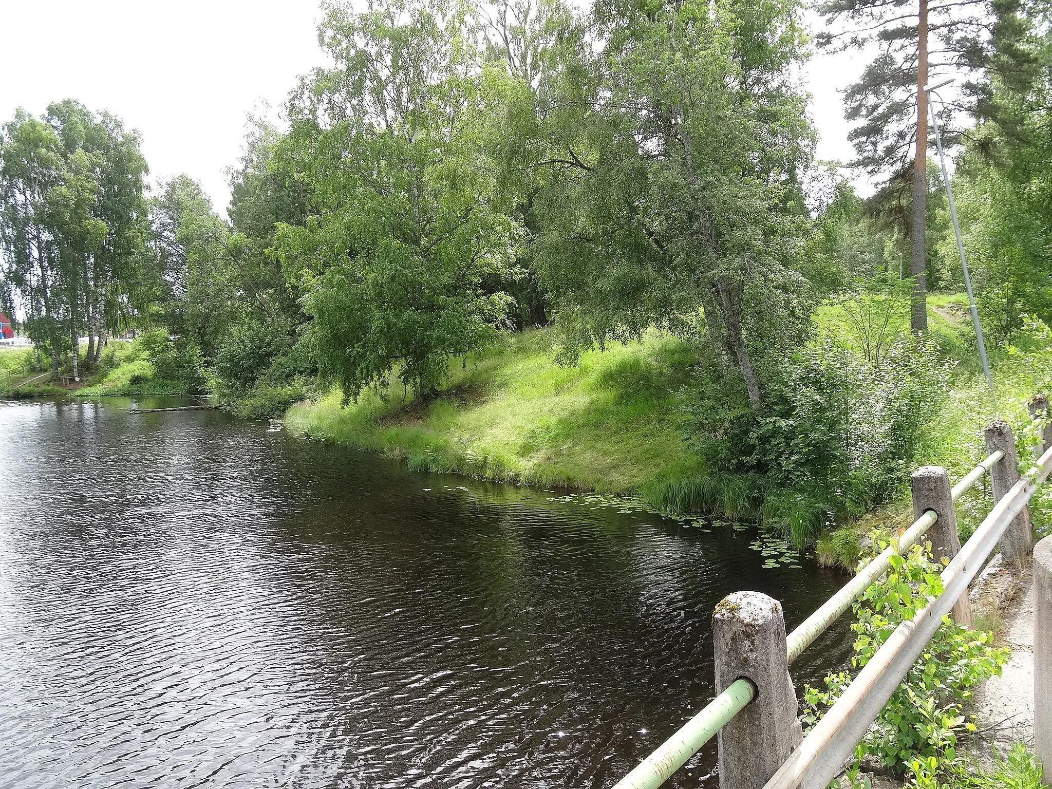
M 336 65 L 304 79 L 281 154 L 310 215 L 277 250 L 346 397 L 396 370 L 428 392 L 511 304 L 483 288 L 513 268 L 520 229 L 486 156 L 481 54 L 449 0 L 324 7 Z

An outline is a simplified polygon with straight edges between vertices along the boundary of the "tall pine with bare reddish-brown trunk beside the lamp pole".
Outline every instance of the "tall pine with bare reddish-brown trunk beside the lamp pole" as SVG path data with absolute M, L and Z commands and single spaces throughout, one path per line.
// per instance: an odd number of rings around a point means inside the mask
M 991 70 L 1011 70 L 1021 50 L 1017 0 L 822 0 L 830 29 L 817 43 L 832 50 L 875 49 L 862 78 L 845 94 L 857 154 L 854 164 L 884 179 L 887 202 L 909 216 L 910 326 L 928 328 L 926 237 L 929 154 L 928 96 L 924 86 L 944 76 L 967 80 L 959 99 L 943 105 L 944 141 L 953 145 L 962 122 L 989 113 Z M 905 206 L 908 205 L 908 208 Z

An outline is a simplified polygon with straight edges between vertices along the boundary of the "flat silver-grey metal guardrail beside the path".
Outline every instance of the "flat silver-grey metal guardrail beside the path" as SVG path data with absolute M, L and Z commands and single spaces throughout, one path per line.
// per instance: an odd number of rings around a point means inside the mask
M 967 593 L 968 584 L 1002 534 L 1027 506 L 1037 485 L 1052 471 L 1052 449 L 1041 456 L 1038 464 L 994 505 L 951 560 L 940 575 L 943 593 L 912 620 L 895 628 L 801 746 L 767 782 L 765 789 L 825 789 L 836 777 L 855 745 L 943 624 L 943 618 L 953 609 L 957 599 Z

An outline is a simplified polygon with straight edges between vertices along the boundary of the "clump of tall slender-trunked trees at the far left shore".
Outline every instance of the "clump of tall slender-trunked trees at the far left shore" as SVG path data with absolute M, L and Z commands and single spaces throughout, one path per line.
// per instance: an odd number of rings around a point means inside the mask
M 86 361 L 97 362 L 104 330 L 116 326 L 141 278 L 146 163 L 138 136 L 66 100 L 39 121 L 20 110 L 5 126 L 0 156 L 5 279 L 24 301 L 31 336 L 48 345 L 53 370 L 68 347 L 77 378 L 81 332 Z

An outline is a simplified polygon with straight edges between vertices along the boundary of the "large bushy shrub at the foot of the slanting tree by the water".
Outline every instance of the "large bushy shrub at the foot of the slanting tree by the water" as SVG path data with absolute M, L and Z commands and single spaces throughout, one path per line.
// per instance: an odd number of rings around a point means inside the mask
M 760 413 L 701 389 L 691 440 L 714 472 L 766 478 L 765 519 L 802 545 L 898 490 L 948 387 L 926 340 L 901 338 L 879 363 L 827 340 L 769 373 Z

